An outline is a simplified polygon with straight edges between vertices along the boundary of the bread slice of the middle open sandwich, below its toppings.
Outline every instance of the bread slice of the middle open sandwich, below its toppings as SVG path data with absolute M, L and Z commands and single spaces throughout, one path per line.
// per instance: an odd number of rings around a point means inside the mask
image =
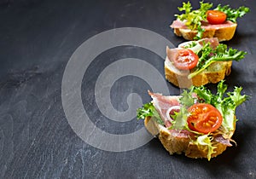
M 169 61 L 169 62 L 168 62 Z M 211 66 L 219 66 L 218 70 L 203 71 L 196 75 L 194 78 L 189 79 L 189 71 L 178 71 L 175 66 L 172 65 L 168 57 L 165 61 L 165 74 L 166 79 L 179 88 L 189 88 L 191 85 L 201 86 L 204 84 L 216 84 L 223 80 L 225 76 L 230 75 L 232 61 L 218 61 L 212 63 Z M 211 68 L 211 66 L 209 66 Z

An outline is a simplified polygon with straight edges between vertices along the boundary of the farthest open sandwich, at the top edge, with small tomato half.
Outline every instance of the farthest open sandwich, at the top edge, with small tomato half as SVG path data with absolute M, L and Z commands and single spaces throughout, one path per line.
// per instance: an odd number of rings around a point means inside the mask
M 231 9 L 229 5 L 218 4 L 212 9 L 212 3 L 200 2 L 200 9 L 192 10 L 191 3 L 183 3 L 173 20 L 172 29 L 177 36 L 187 40 L 201 38 L 218 38 L 218 41 L 227 41 L 233 38 L 236 32 L 236 19 L 249 12 L 249 8 L 241 6 Z

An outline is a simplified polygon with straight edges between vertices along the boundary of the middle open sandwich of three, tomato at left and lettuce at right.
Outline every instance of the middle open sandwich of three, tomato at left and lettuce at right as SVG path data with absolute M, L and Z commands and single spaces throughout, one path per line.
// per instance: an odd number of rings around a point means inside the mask
M 227 48 L 218 38 L 203 38 L 166 48 L 166 79 L 179 88 L 216 84 L 231 72 L 232 61 L 247 53 Z

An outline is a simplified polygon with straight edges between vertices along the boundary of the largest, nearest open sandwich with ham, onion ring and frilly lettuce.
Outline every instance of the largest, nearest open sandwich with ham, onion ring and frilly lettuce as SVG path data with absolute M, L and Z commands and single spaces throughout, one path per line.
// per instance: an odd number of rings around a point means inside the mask
M 189 158 L 208 160 L 231 147 L 236 130 L 236 107 L 247 100 L 242 88 L 227 92 L 224 81 L 213 95 L 206 87 L 183 90 L 181 95 L 152 93 L 153 101 L 137 109 L 146 129 L 158 136 L 170 153 L 184 153 Z

